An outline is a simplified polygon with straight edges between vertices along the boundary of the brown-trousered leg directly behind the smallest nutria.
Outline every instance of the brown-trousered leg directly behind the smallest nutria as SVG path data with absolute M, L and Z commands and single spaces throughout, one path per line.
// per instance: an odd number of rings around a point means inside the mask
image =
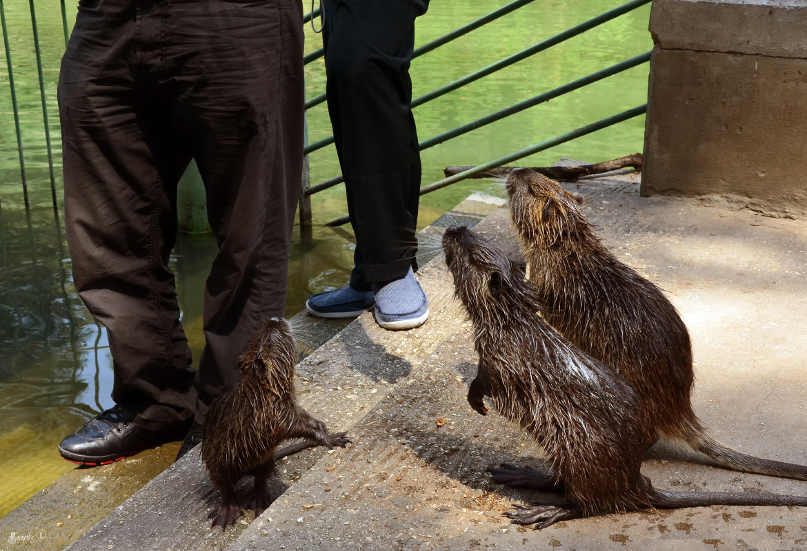
M 165 60 L 182 67 L 165 83 L 176 88 L 172 125 L 190 143 L 219 245 L 204 293 L 203 424 L 207 404 L 236 387 L 258 323 L 285 313 L 303 166 L 303 23 L 294 0 L 175 7 L 166 20 L 169 39 L 182 36 Z

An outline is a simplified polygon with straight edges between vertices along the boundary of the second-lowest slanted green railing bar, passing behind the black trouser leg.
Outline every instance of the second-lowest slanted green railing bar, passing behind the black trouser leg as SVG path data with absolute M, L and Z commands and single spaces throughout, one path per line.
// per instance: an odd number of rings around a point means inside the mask
M 487 115 L 483 118 L 478 118 L 474 122 L 468 122 L 462 126 L 458 126 L 454 128 L 452 131 L 445 132 L 444 134 L 437 135 L 433 138 L 426 139 L 420 142 L 420 151 L 424 149 L 429 149 L 429 147 L 434 147 L 440 143 L 445 142 L 449 139 L 457 138 L 463 134 L 467 134 L 470 131 L 474 131 L 482 126 L 487 126 L 491 124 L 491 122 L 496 122 L 501 120 L 502 118 L 507 118 L 512 114 L 519 113 L 523 110 L 529 109 L 530 107 L 537 106 L 540 103 L 549 102 L 551 99 L 555 97 L 562 96 L 564 93 L 572 92 L 576 89 L 583 88 L 583 86 L 590 85 L 596 81 L 601 81 L 604 78 L 611 77 L 617 73 L 621 73 L 623 71 L 628 70 L 629 68 L 636 67 L 643 63 L 646 63 L 650 60 L 650 52 L 643 53 L 639 56 L 635 56 L 630 58 L 629 60 L 621 61 L 620 63 L 614 64 L 611 67 L 604 68 L 596 73 L 592 73 L 587 77 L 579 78 L 576 81 L 572 81 L 566 85 L 559 86 L 558 88 L 552 89 L 548 92 L 538 94 L 535 97 L 530 98 L 529 100 L 525 100 L 521 103 L 516 103 L 514 106 L 510 106 L 507 109 L 497 111 L 496 113 L 492 113 Z M 335 178 L 331 178 L 330 180 L 325 180 L 320 184 L 316 184 L 311 188 L 306 190 L 306 195 L 312 195 L 313 193 L 320 192 L 324 189 L 328 189 L 333 187 L 334 185 L 341 184 L 341 182 L 345 181 L 343 176 L 337 176 Z

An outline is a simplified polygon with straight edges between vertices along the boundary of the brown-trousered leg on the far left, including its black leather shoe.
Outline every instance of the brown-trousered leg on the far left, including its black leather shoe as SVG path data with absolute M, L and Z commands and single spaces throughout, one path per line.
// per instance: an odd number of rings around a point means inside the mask
M 128 11 L 107 3 L 79 11 L 59 82 L 73 280 L 107 328 L 112 398 L 121 406 L 62 442 L 73 461 L 108 461 L 173 439 L 195 402 L 168 267 L 176 183 L 187 157 L 132 73 Z

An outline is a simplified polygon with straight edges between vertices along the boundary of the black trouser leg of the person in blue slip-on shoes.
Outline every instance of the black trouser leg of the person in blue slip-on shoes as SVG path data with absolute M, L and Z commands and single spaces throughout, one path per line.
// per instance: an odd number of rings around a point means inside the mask
M 420 152 L 409 64 L 429 0 L 324 0 L 328 113 L 345 176 L 356 268 L 350 284 L 415 267 Z

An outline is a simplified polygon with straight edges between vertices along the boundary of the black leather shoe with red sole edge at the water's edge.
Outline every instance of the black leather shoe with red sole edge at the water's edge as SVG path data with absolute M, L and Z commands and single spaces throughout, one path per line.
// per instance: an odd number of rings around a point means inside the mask
M 99 413 L 61 441 L 61 457 L 86 466 L 107 465 L 146 448 L 177 441 L 187 427 L 164 431 L 140 429 L 132 423 L 136 416 L 137 412 L 119 405 Z

